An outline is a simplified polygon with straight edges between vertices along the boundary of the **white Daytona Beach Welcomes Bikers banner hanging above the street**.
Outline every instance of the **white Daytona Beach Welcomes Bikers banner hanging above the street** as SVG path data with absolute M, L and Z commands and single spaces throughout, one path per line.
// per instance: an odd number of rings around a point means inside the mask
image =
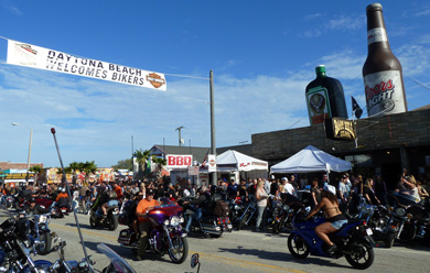
M 76 57 L 26 43 L 8 40 L 8 64 L 98 78 L 165 91 L 164 74 Z

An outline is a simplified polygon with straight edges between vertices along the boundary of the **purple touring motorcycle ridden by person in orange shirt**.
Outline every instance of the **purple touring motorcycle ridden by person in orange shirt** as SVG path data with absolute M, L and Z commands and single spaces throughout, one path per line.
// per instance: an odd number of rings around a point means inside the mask
M 182 230 L 184 222 L 183 209 L 169 198 L 160 198 L 160 206 L 148 211 L 152 227 L 148 236 L 147 253 L 169 253 L 174 263 L 183 263 L 189 254 L 186 232 Z M 132 226 L 119 232 L 118 242 L 135 252 L 138 250 L 139 236 L 135 233 Z

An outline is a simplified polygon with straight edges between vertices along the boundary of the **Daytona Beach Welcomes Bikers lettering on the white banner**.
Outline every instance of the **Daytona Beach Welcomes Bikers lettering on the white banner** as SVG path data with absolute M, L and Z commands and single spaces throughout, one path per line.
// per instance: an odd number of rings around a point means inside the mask
M 79 58 L 55 51 L 50 51 L 46 57 L 46 69 L 50 70 L 109 79 L 138 86 L 144 84 L 144 78 L 142 77 L 142 72 L 140 69 L 109 64 L 101 61 Z

